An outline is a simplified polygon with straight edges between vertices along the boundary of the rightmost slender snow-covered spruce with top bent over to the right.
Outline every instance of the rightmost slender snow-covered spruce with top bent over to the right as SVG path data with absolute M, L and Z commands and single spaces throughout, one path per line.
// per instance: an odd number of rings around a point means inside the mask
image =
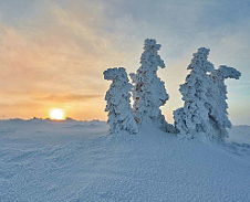
M 218 70 L 210 74 L 213 78 L 212 96 L 210 97 L 209 121 L 212 126 L 216 136 L 215 139 L 223 141 L 228 138 L 227 128 L 231 128 L 231 121 L 228 119 L 228 104 L 227 104 L 227 86 L 226 78 L 239 79 L 241 73 L 233 67 L 220 65 Z

